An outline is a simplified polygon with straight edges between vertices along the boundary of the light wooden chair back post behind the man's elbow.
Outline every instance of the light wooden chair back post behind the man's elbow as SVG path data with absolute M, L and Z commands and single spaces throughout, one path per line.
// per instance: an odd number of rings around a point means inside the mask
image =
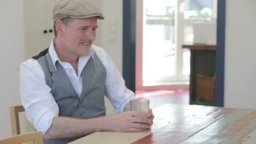
M 19 126 L 19 112 L 24 112 L 25 109 L 22 105 L 10 107 L 10 115 L 11 115 L 11 134 L 15 136 L 20 134 L 20 126 Z

